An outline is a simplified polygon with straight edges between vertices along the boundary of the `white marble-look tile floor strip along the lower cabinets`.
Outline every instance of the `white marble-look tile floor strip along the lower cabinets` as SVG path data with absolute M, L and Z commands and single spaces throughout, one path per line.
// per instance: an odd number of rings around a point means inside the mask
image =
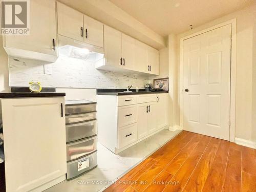
M 76 179 L 63 181 L 45 191 L 101 191 L 179 133 L 180 131 L 162 130 L 117 155 L 98 143 L 98 167 Z

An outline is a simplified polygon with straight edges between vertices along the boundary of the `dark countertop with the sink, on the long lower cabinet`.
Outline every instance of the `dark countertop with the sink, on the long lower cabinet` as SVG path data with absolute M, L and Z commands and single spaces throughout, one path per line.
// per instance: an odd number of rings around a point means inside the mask
M 140 89 L 138 92 L 132 89 L 132 92 L 124 92 L 125 89 L 97 89 L 97 95 L 141 95 L 141 94 L 159 94 L 168 93 L 168 91 L 145 91 Z

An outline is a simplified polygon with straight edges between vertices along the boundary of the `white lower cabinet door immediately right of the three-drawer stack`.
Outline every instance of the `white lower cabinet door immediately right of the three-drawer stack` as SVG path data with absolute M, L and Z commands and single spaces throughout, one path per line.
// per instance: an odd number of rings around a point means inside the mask
M 145 137 L 148 134 L 147 106 L 147 103 L 137 104 L 138 139 L 141 139 L 142 137 Z

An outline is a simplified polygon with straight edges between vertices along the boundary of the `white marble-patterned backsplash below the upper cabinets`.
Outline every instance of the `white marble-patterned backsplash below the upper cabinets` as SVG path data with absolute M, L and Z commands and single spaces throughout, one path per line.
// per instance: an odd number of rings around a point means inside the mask
M 27 87 L 31 80 L 40 81 L 42 87 L 56 88 L 120 88 L 133 85 L 144 88 L 151 81 L 147 77 L 118 74 L 95 69 L 95 63 L 71 57 L 60 56 L 50 63 L 52 74 L 44 74 L 44 62 L 29 59 L 14 60 L 9 57 L 10 86 Z

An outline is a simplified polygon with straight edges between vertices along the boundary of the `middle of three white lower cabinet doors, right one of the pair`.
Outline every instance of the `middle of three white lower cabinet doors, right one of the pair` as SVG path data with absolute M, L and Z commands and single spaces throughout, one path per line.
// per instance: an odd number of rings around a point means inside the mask
M 148 103 L 148 133 L 157 130 L 157 102 Z

